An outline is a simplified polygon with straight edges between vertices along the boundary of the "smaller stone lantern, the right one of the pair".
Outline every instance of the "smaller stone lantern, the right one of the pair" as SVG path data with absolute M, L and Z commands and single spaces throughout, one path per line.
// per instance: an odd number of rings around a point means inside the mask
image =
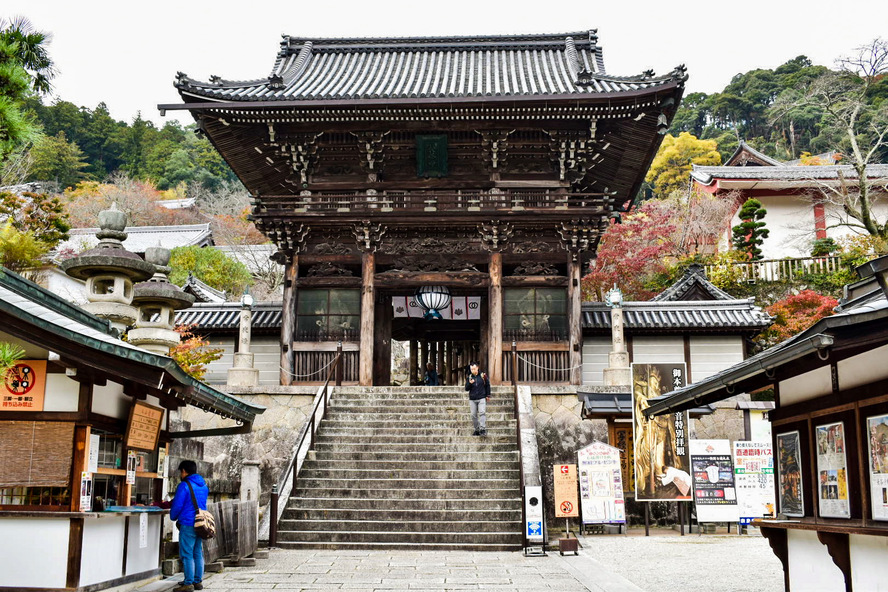
M 170 348 L 179 343 L 179 334 L 174 329 L 176 311 L 194 304 L 194 296 L 170 283 L 167 277 L 171 271 L 169 249 L 149 247 L 145 249 L 145 261 L 154 267 L 155 273 L 147 282 L 133 287 L 133 304 L 138 307 L 139 315 L 127 339 L 133 345 L 167 356 Z

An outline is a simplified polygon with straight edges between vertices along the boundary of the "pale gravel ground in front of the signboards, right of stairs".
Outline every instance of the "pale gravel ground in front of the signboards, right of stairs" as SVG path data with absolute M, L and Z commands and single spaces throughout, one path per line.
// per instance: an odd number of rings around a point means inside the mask
M 759 534 L 651 533 L 633 529 L 628 536 L 590 535 L 581 542 L 589 557 L 647 592 L 783 591 L 780 560 Z

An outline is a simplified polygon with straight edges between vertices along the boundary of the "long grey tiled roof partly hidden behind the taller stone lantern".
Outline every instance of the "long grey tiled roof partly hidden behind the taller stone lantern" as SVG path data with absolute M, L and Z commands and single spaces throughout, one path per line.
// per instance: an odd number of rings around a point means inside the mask
M 99 244 L 96 238 L 98 228 L 72 228 L 70 238 L 59 244 L 58 251 L 71 249 L 76 253 L 91 249 Z M 127 239 L 123 246 L 133 253 L 144 253 L 148 247 L 158 244 L 167 249 L 197 245 L 205 247 L 213 244 L 213 231 L 207 224 L 183 224 L 178 226 L 130 226 L 125 229 Z

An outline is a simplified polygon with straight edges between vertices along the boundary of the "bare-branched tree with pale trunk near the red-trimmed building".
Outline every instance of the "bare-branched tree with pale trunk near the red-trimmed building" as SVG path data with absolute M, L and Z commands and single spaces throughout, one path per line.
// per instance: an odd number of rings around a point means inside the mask
M 888 218 L 880 219 L 874 209 L 876 196 L 888 190 L 888 179 L 869 172 L 872 163 L 888 156 L 888 101 L 882 98 L 888 41 L 876 39 L 837 64 L 837 72 L 785 97 L 775 107 L 775 118 L 786 119 L 803 109 L 822 114 L 820 137 L 846 155 L 843 162 L 851 170 L 839 170 L 835 182 L 812 176 L 817 190 L 811 197 L 833 206 L 828 209 L 830 226 L 888 238 Z

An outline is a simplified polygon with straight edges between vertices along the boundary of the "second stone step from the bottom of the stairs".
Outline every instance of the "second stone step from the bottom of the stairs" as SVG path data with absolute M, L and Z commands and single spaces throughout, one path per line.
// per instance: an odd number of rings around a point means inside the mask
M 490 520 L 281 520 L 281 532 L 319 532 L 329 535 L 358 532 L 386 532 L 389 534 L 462 534 L 491 532 L 520 532 L 521 518 L 512 521 L 494 522 Z M 326 538 L 325 538 L 326 540 Z

